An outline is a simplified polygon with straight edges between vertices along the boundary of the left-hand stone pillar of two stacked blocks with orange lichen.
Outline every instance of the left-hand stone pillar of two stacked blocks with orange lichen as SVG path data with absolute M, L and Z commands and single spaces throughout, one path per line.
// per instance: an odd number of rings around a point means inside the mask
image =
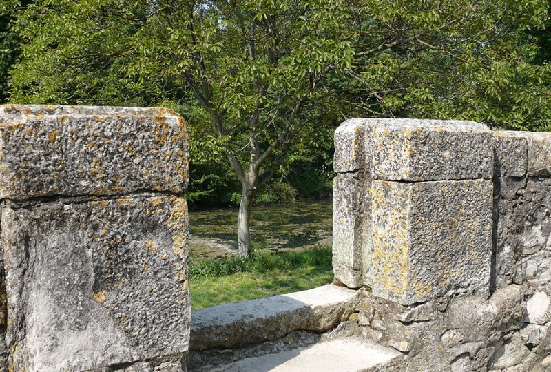
M 165 109 L 0 106 L 10 371 L 182 371 L 187 134 Z

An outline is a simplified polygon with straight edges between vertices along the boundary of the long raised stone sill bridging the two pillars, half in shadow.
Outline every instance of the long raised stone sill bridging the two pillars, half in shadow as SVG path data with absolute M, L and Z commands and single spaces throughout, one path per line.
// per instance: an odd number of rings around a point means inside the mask
M 324 285 L 286 295 L 222 304 L 191 313 L 191 350 L 276 340 L 291 331 L 327 331 L 355 311 L 360 292 Z

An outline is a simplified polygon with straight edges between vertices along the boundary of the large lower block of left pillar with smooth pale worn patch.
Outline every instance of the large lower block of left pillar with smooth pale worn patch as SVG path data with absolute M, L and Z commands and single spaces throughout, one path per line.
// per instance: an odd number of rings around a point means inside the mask
M 1 231 L 12 370 L 95 371 L 185 356 L 184 198 L 8 203 Z

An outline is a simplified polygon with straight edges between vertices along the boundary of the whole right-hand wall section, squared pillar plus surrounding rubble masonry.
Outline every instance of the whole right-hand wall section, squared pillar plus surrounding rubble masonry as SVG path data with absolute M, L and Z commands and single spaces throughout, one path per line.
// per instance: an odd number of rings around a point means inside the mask
M 551 134 L 352 119 L 335 172 L 335 278 L 397 371 L 551 370 Z

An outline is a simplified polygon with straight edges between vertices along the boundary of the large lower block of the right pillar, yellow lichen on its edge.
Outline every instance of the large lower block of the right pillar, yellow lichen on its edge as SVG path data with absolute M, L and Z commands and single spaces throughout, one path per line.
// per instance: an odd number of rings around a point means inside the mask
M 414 304 L 446 293 L 487 293 L 492 251 L 490 180 L 371 184 L 375 296 Z

